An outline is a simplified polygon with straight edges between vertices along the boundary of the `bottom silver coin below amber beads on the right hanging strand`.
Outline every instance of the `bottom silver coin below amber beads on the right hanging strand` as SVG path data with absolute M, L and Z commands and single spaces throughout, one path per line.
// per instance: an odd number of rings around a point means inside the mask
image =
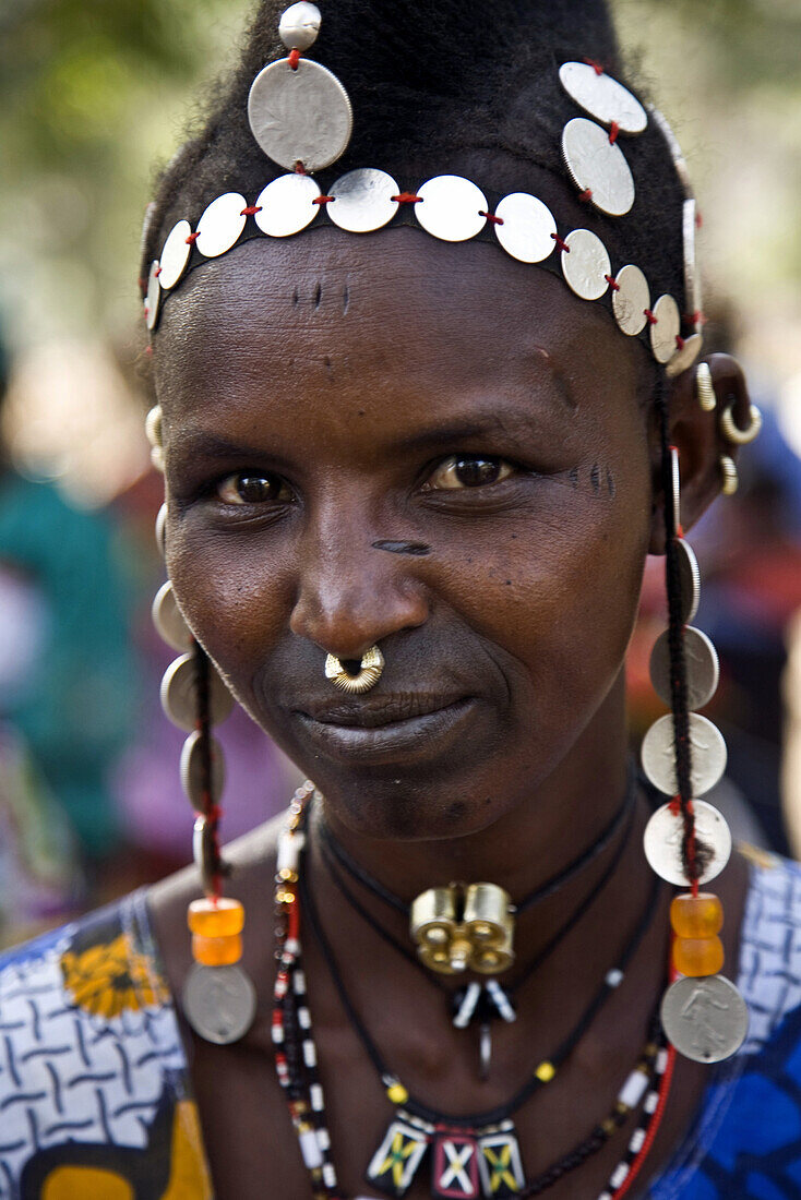
M 748 1032 L 748 1007 L 723 976 L 676 979 L 662 998 L 659 1015 L 668 1040 L 694 1062 L 730 1058 Z

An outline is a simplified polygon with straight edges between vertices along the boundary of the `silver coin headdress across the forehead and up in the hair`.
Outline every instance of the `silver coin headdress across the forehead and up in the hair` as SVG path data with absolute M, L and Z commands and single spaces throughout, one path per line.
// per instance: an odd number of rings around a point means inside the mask
M 288 238 L 322 224 L 354 234 L 416 224 L 442 241 L 496 240 L 518 262 L 537 263 L 561 275 L 580 299 L 604 300 L 621 331 L 641 338 L 669 376 L 692 366 L 701 349 L 703 320 L 695 199 L 685 158 L 660 113 L 652 108 L 648 114 L 597 64 L 564 62 L 560 67 L 563 89 L 588 114 L 572 118 L 562 131 L 562 157 L 580 199 L 606 216 L 624 216 L 634 204 L 635 186 L 620 136 L 636 137 L 651 119 L 670 148 L 685 190 L 685 299 L 689 311 L 683 317 L 673 295 L 652 298 L 640 266 L 622 263 L 612 274 L 609 251 L 597 234 L 561 224 L 549 206 L 528 192 L 489 196 L 460 175 L 436 175 L 405 192 L 387 172 L 361 167 L 341 175 L 323 193 L 312 176 L 345 152 L 353 110 L 336 76 L 301 58 L 319 25 L 318 8 L 305 0 L 286 10 L 279 32 L 289 55 L 257 74 L 247 100 L 256 142 L 287 174 L 267 184 L 251 202 L 239 192 L 219 196 L 195 229 L 186 220 L 173 227 L 148 275 L 148 329 L 156 329 L 165 299 L 189 271 L 251 238 Z

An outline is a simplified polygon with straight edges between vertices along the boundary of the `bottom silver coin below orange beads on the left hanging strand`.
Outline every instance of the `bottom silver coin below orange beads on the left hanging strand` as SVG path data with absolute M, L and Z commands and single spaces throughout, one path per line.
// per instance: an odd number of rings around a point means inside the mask
M 193 964 L 181 996 L 184 1016 L 207 1042 L 229 1045 L 247 1033 L 256 1016 L 256 989 L 239 966 Z

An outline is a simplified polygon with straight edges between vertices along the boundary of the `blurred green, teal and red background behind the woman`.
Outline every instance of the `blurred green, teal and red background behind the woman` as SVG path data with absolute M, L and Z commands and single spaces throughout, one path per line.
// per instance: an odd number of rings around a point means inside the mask
M 765 414 L 736 498 L 694 532 L 698 624 L 722 656 L 716 797 L 735 833 L 801 850 L 801 5 L 616 0 L 635 78 L 689 161 L 707 337 Z M 137 300 L 156 169 L 233 53 L 244 0 L 0 6 L 0 944 L 189 860 L 183 736 L 161 714 Z M 629 680 L 636 737 L 662 709 L 650 564 Z M 294 772 L 237 713 L 225 835 L 283 806 Z

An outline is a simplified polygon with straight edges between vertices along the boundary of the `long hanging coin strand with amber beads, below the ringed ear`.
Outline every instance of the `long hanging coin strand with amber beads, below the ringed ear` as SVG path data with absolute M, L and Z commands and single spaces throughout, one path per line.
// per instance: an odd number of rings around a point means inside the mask
M 665 434 L 666 408 L 663 479 L 669 628 L 653 647 L 651 678 L 673 713 L 651 726 L 641 755 L 648 780 L 673 799 L 648 821 L 644 847 L 657 875 L 689 887 L 670 906 L 674 978 L 662 1001 L 662 1024 L 681 1054 L 709 1063 L 740 1049 L 748 1010 L 735 985 L 719 974 L 723 906 L 715 894 L 699 890 L 723 870 L 731 852 L 731 834 L 722 814 L 697 798 L 721 780 L 727 749 L 717 727 L 695 712 L 715 694 L 718 658 L 709 637 L 688 624 L 698 606 L 698 566 L 692 570 L 695 556 L 685 542 L 679 520 L 679 452 L 666 446 Z

